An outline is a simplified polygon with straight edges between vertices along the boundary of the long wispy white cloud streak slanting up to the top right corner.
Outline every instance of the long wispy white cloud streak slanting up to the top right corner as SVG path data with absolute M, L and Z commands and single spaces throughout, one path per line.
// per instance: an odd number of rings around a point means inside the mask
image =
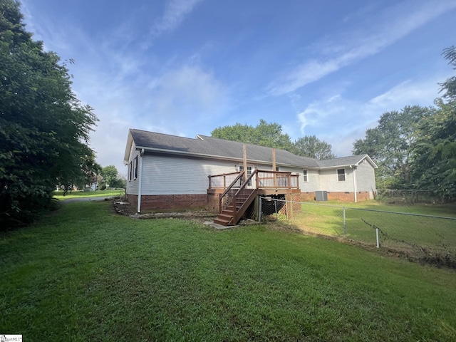
M 321 43 L 320 58 L 304 61 L 278 81 L 271 83 L 267 88 L 269 94 L 291 93 L 344 66 L 372 56 L 445 11 L 456 7 L 455 1 L 426 1 L 420 6 L 414 6 L 415 2 L 408 4 L 408 8 L 402 3 L 380 14 L 380 24 L 370 30 L 367 29 L 364 34 L 356 31 L 344 33 L 343 44 L 336 43 L 336 37 Z M 337 57 L 332 57 L 335 54 Z

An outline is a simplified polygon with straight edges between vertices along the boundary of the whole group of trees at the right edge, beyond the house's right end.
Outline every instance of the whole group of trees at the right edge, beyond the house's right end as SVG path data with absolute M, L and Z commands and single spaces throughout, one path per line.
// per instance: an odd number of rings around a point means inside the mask
M 456 47 L 442 55 L 456 70 Z M 353 153 L 367 153 L 378 164 L 377 187 L 427 190 L 443 200 L 456 199 L 456 76 L 440 83 L 434 105 L 407 105 L 383 113 Z

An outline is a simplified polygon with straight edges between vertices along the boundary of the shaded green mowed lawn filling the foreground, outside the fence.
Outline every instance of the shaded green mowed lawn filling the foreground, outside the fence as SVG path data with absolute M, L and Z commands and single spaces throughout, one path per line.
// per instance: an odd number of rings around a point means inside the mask
M 455 341 L 456 273 L 254 225 L 63 204 L 1 235 L 0 330 L 24 341 Z

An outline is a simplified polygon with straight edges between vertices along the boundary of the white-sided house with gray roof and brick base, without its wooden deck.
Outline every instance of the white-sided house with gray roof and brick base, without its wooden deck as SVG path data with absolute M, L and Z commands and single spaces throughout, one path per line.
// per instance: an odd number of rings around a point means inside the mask
M 244 145 L 247 175 L 257 170 L 270 170 L 277 171 L 274 179 L 292 175 L 298 180 L 297 187 L 294 181 L 294 189 L 289 188 L 284 194 L 296 194 L 297 191 L 301 199 L 314 200 L 316 195 L 325 192 L 328 199 L 349 202 L 372 199 L 375 195 L 377 165 L 368 155 L 316 160 L 286 150 L 205 135 L 192 139 L 130 129 L 124 157 L 124 163 L 128 165 L 128 202 L 137 206 L 138 212 L 187 208 L 218 211 L 219 207 L 214 203 L 218 203 L 219 193 L 226 187 L 219 185 L 219 190 L 215 191 L 211 185 L 209 189 L 209 179 L 214 179 L 209 176 L 242 171 Z M 272 170 L 274 151 L 276 170 Z M 258 172 L 256 177 L 259 177 Z M 277 183 L 274 186 L 278 187 Z M 214 202 L 211 196 L 217 200 Z

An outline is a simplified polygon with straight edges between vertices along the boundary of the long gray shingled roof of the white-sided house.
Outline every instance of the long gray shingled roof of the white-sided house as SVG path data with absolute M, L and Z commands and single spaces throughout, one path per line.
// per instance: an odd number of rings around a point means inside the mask
M 242 160 L 243 143 L 197 135 L 197 138 L 183 138 L 176 135 L 147 132 L 145 130 L 130 129 L 133 141 L 137 148 L 145 150 L 182 152 L 191 155 L 222 157 L 226 159 Z M 251 162 L 272 162 L 272 148 L 247 145 L 247 160 Z M 316 160 L 300 157 L 286 150 L 276 149 L 276 163 L 279 165 L 293 165 L 299 167 L 321 168 L 353 165 L 360 162 L 366 155 L 342 157 L 331 160 Z

